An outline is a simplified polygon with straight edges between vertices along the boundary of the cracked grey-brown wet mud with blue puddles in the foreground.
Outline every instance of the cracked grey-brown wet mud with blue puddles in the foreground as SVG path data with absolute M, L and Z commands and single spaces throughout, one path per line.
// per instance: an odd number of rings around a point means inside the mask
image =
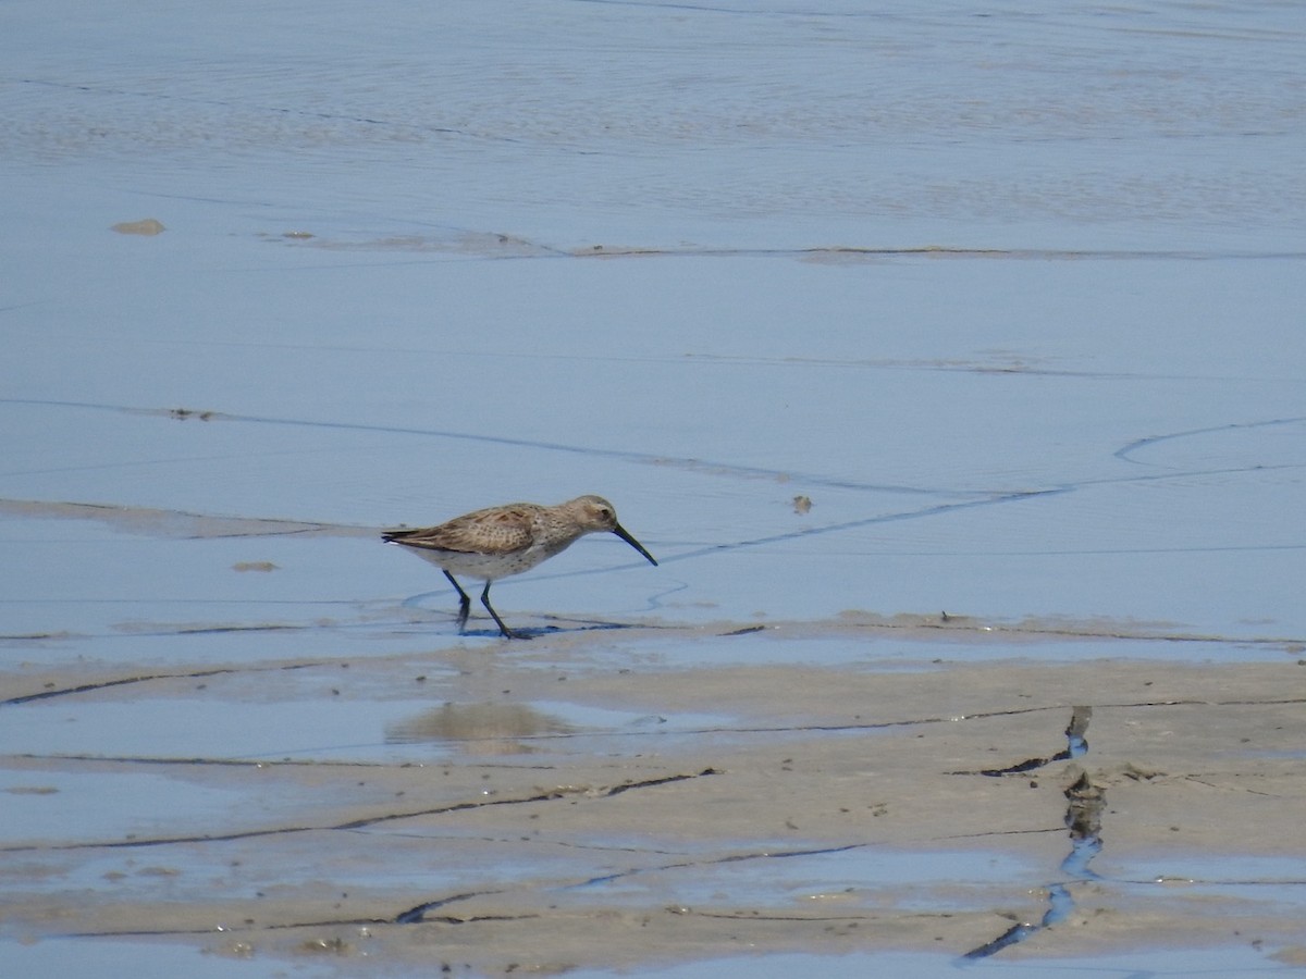
M 4 935 L 346 974 L 1306 956 L 1290 650 L 1113 659 L 1127 640 L 1097 624 L 1092 658 L 968 662 L 1058 640 L 870 616 L 555 628 L 347 659 L 10 668 L 10 749 L 17 731 L 57 748 L 57 727 L 84 747 L 0 757 Z M 776 658 L 808 642 L 857 657 Z

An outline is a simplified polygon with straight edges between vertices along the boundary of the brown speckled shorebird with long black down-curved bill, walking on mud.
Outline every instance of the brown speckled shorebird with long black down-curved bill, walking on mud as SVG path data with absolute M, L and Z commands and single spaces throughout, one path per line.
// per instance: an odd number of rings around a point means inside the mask
M 530 570 L 541 561 L 565 551 L 577 538 L 601 531 L 616 534 L 648 557 L 650 564 L 657 564 L 653 555 L 644 550 L 644 544 L 616 522 L 616 510 L 601 496 L 577 496 L 556 506 L 509 503 L 465 513 L 438 527 L 390 530 L 383 536 L 440 567 L 458 593 L 458 632 L 468 624 L 471 599 L 453 577 L 454 572 L 483 581 L 486 587 L 481 593 L 481 604 L 498 623 L 499 632 L 507 638 L 524 640 L 529 636 L 504 625 L 490 604 L 490 585 L 509 574 Z

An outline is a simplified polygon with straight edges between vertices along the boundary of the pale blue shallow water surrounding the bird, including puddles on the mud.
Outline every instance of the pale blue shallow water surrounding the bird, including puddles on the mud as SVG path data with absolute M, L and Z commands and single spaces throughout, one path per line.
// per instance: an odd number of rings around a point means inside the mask
M 494 775 L 764 751 L 815 723 L 782 688 L 649 704 L 636 677 L 1169 679 L 1306 649 L 1296 5 L 18 0 L 0 20 L 9 845 L 296 811 L 312 779 L 260 796 L 239 774 L 259 761 Z M 496 583 L 525 649 L 479 610 L 457 638 L 443 578 L 375 536 L 582 492 L 661 564 L 589 538 Z M 912 709 L 965 718 L 966 693 Z M 167 848 L 222 880 L 221 855 Z M 908 895 L 949 858 L 916 877 L 883 859 Z M 1299 909 L 1260 859 L 1174 872 Z M 1157 860 L 1113 872 L 1178 867 Z M 405 871 L 341 873 L 402 890 Z M 1019 862 L 990 882 L 1007 872 L 1049 882 Z M 131 880 L 149 901 L 175 876 Z M 18 931 L 7 971 L 191 967 Z M 627 972 L 756 974 L 718 954 Z M 1192 965 L 1135 954 L 1122 971 Z M 844 966 L 867 962 L 819 967 Z

